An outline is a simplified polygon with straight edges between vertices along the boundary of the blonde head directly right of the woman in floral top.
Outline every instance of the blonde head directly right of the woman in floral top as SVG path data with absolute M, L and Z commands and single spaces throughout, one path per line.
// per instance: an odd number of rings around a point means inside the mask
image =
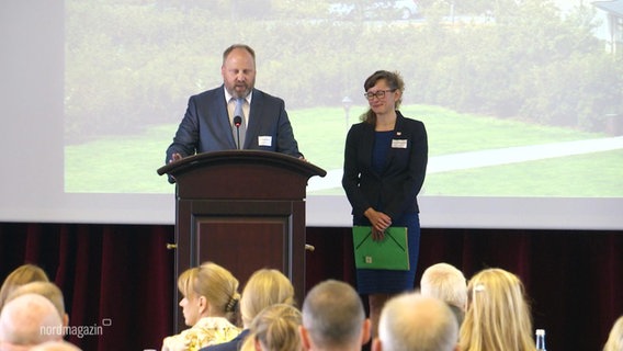
M 264 308 L 274 304 L 295 305 L 294 286 L 282 272 L 274 269 L 256 271 L 242 290 L 240 314 L 245 328 Z

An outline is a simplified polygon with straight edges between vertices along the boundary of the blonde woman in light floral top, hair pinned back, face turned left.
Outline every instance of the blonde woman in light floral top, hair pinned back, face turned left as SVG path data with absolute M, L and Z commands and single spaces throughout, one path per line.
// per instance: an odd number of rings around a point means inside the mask
M 178 288 L 184 321 L 190 329 L 167 337 L 162 351 L 196 351 L 226 342 L 240 333 L 234 325 L 240 294 L 238 280 L 223 267 L 206 262 L 180 274 Z

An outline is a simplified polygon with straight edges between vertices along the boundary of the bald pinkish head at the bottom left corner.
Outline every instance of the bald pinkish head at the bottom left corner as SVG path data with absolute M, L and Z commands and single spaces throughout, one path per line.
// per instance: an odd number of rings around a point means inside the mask
M 24 294 L 7 302 L 0 313 L 0 341 L 32 347 L 63 339 L 63 322 L 49 299 Z

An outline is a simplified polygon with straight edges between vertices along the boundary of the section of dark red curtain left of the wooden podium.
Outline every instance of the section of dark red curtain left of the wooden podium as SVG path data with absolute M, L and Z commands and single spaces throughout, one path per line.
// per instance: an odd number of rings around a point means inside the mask
M 1 224 L 0 276 L 41 265 L 65 295 L 83 350 L 160 349 L 172 330 L 173 226 Z M 175 306 L 177 307 L 177 306 Z

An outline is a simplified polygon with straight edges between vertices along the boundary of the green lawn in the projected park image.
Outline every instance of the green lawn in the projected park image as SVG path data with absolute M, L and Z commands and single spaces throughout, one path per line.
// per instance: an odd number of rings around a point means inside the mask
M 341 107 L 288 111 L 299 149 L 308 161 L 340 170 L 348 128 L 364 106 L 353 106 L 347 121 Z M 407 105 L 401 112 L 424 122 L 429 157 L 507 147 L 603 138 L 557 127 L 460 114 L 434 106 Z M 156 170 L 179 122 L 149 127 L 140 135 L 114 136 L 65 148 L 66 192 L 172 193 Z M 623 150 L 558 157 L 520 163 L 429 173 L 424 195 L 623 196 Z M 341 194 L 339 184 L 317 194 Z

